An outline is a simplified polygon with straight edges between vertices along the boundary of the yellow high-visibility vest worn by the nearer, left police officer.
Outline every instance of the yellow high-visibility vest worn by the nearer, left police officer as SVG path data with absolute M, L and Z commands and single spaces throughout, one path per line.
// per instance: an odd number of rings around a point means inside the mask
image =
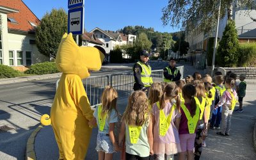
M 144 84 L 144 86 L 151 86 L 153 83 L 153 79 L 151 77 L 151 67 L 148 65 L 145 65 L 145 63 L 142 63 L 141 61 L 137 62 L 138 65 L 142 68 L 141 70 L 141 82 Z

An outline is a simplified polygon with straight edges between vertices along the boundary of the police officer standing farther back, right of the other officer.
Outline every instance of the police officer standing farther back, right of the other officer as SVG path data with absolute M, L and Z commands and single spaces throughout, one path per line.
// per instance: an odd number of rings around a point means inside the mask
M 179 81 L 181 74 L 180 74 L 180 70 L 178 68 L 175 67 L 175 60 L 172 57 L 170 59 L 170 63 L 169 66 L 164 68 L 164 82 L 175 82 L 175 81 Z

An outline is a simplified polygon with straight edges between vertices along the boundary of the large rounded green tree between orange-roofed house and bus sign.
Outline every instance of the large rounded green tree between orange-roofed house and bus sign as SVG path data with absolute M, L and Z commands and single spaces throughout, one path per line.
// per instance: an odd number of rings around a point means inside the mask
M 46 13 L 36 28 L 36 46 L 45 56 L 56 58 L 61 37 L 67 33 L 67 13 L 64 9 L 52 9 Z

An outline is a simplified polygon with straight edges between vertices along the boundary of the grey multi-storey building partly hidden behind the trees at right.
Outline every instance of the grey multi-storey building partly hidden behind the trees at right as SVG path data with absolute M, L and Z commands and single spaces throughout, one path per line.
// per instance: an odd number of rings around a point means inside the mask
M 238 40 L 240 43 L 244 42 L 256 42 L 256 22 L 254 22 L 251 17 L 255 17 L 255 10 L 244 10 L 241 8 L 232 8 L 231 18 L 236 23 Z M 246 14 L 247 13 L 247 14 Z M 225 26 L 227 25 L 228 14 L 220 20 L 218 28 L 218 40 L 221 40 Z M 189 50 L 186 58 L 197 68 L 205 67 L 205 56 L 207 51 L 208 40 L 211 37 L 216 36 L 216 29 L 213 29 L 212 33 L 204 33 L 200 29 L 200 24 L 198 24 L 193 29 L 187 29 L 185 40 L 189 42 Z M 201 63 L 202 62 L 202 63 Z M 207 64 L 211 65 L 211 64 Z

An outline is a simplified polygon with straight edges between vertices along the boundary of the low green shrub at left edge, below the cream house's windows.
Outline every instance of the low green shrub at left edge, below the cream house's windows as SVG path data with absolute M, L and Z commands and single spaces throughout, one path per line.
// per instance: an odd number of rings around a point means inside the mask
M 17 76 L 20 76 L 20 72 L 18 70 L 7 65 L 0 65 L 0 78 L 13 78 Z

